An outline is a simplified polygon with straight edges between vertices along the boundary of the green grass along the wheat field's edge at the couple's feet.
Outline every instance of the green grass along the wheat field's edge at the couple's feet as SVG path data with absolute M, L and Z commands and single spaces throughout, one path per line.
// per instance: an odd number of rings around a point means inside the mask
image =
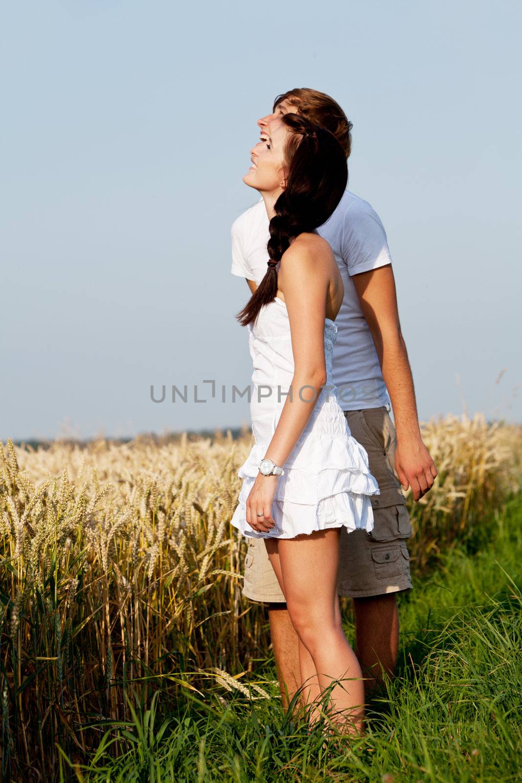
M 106 734 L 78 779 L 520 780 L 521 519 L 519 496 L 401 597 L 397 677 L 370 703 L 365 738 L 323 747 L 319 731 L 283 711 L 273 661 L 259 662 L 250 682 L 270 700 L 209 685 L 204 695 L 187 689 L 175 715 L 161 715 L 156 698 L 153 709 L 135 705 L 133 722 Z M 347 614 L 351 634 L 350 623 Z

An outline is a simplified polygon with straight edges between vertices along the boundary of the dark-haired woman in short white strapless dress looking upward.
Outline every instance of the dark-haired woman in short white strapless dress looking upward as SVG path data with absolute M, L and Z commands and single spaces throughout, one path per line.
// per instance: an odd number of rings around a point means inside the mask
M 286 114 L 251 160 L 243 182 L 265 201 L 271 260 L 237 316 L 254 361 L 255 445 L 239 468 L 232 525 L 265 539 L 299 637 L 305 701 L 331 687 L 336 722 L 360 732 L 364 688 L 340 621 L 339 538 L 342 525 L 373 529 L 369 496 L 379 487 L 329 384 L 344 286 L 329 244 L 315 232 L 344 193 L 346 157 L 326 128 Z

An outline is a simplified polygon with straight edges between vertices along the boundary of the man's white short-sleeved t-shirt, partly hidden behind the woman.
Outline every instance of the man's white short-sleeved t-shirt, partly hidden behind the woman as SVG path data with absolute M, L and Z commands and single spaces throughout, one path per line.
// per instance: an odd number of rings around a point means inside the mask
M 336 211 L 317 231 L 329 242 L 344 283 L 332 359 L 332 381 L 338 388 L 340 406 L 343 410 L 380 406 L 390 410 L 372 333 L 351 281 L 351 275 L 391 264 L 384 226 L 367 201 L 347 190 Z M 268 269 L 269 236 L 268 215 L 261 199 L 232 225 L 233 275 L 261 283 Z

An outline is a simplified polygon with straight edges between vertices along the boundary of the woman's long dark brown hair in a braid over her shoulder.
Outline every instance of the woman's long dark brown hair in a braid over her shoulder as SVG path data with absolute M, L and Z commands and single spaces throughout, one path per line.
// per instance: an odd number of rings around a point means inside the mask
M 277 266 L 290 240 L 326 223 L 348 181 L 344 150 L 333 133 L 301 114 L 285 114 L 281 121 L 290 130 L 284 152 L 286 186 L 275 202 L 275 215 L 268 227 L 268 270 L 236 316 L 243 327 L 255 321 L 261 307 L 275 299 Z

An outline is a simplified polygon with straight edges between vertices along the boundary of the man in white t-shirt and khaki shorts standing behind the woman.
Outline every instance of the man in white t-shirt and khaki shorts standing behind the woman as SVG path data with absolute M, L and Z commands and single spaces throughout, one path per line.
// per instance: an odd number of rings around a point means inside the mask
M 265 143 L 279 117 L 304 114 L 329 128 L 351 152 L 351 122 L 329 96 L 297 88 L 275 99 L 272 114 L 257 124 Z M 412 372 L 398 318 L 397 297 L 387 237 L 373 208 L 350 191 L 319 229 L 335 254 L 344 283 L 333 351 L 333 383 L 351 435 L 364 446 L 369 469 L 379 483 L 372 497 L 374 529 L 340 537 L 338 592 L 354 600 L 356 653 L 368 693 L 391 676 L 398 655 L 396 594 L 410 590 L 409 514 L 401 493 L 412 488 L 419 500 L 437 470 L 420 437 Z M 247 278 L 252 293 L 267 270 L 268 217 L 262 200 L 232 226 L 232 274 Z M 389 393 L 389 396 L 388 396 Z M 390 400 L 395 424 L 389 415 Z M 400 483 L 399 483 L 400 482 Z M 268 602 L 275 662 L 283 704 L 301 686 L 297 633 L 286 611 L 264 539 L 249 539 L 243 595 Z

